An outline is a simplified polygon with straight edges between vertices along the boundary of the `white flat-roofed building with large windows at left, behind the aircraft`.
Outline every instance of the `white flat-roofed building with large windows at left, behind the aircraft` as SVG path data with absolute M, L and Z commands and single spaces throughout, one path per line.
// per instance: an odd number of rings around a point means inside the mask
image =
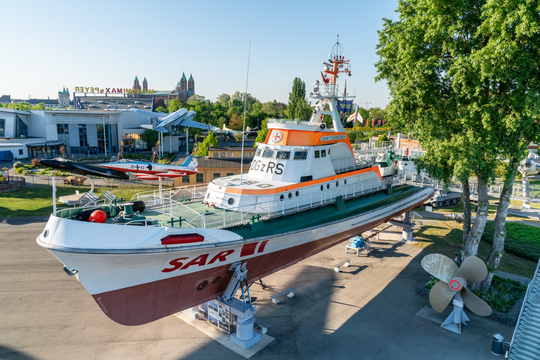
M 122 141 L 143 146 L 143 124 L 150 119 L 129 110 L 0 108 L 0 150 L 11 150 L 16 159 L 59 156 L 62 145 L 69 155 L 115 155 Z

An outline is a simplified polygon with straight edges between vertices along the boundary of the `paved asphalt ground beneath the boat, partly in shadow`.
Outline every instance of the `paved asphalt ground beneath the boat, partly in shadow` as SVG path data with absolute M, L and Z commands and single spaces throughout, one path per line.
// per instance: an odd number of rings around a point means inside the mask
M 175 316 L 135 327 L 109 320 L 36 244 L 44 221 L 0 219 L 1 359 L 243 359 Z M 359 257 L 337 245 L 265 278 L 269 290 L 253 285 L 256 317 L 275 340 L 251 359 L 495 358 L 493 335 L 510 341 L 513 327 L 468 313 L 461 335 L 442 329 L 451 307 L 437 314 L 416 294 L 427 253 L 400 234 L 382 233 Z M 351 266 L 334 272 L 346 258 Z M 271 302 L 291 286 L 294 298 Z

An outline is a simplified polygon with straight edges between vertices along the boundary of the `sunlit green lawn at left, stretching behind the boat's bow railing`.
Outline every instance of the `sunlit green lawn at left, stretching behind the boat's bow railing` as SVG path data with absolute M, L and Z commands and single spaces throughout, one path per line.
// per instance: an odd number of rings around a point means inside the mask
M 116 197 L 122 197 L 125 200 L 131 199 L 133 195 L 141 191 L 156 190 L 157 186 L 147 187 L 95 187 L 94 193 L 96 195 L 103 194 L 106 190 L 116 195 Z M 73 195 L 75 190 L 79 192 L 87 192 L 90 190 L 90 186 L 57 186 L 57 206 L 58 208 L 67 208 L 68 206 L 59 202 L 59 196 Z M 17 217 L 17 216 L 48 216 L 52 213 L 52 187 L 48 185 L 34 185 L 27 186 L 22 189 L 9 191 L 7 193 L 0 194 L 0 217 Z

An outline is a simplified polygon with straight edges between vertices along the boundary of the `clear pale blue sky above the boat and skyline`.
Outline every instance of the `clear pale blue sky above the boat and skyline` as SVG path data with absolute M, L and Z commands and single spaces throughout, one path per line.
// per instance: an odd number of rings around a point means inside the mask
M 172 90 L 192 74 L 197 94 L 245 91 L 286 103 L 295 77 L 307 92 L 339 34 L 356 103 L 384 107 L 375 83 L 377 30 L 397 19 L 397 0 L 374 1 L 2 1 L 0 95 L 57 97 L 62 87 Z M 342 80 L 342 79 L 341 79 Z M 340 81 L 340 87 L 343 81 Z

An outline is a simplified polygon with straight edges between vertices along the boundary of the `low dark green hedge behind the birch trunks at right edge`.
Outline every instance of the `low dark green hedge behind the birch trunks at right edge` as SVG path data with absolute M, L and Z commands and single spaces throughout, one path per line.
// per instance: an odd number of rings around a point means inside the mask
M 486 224 L 482 240 L 493 244 L 494 226 L 493 221 Z M 538 261 L 540 258 L 540 228 L 517 222 L 507 222 L 504 250 L 524 259 Z

